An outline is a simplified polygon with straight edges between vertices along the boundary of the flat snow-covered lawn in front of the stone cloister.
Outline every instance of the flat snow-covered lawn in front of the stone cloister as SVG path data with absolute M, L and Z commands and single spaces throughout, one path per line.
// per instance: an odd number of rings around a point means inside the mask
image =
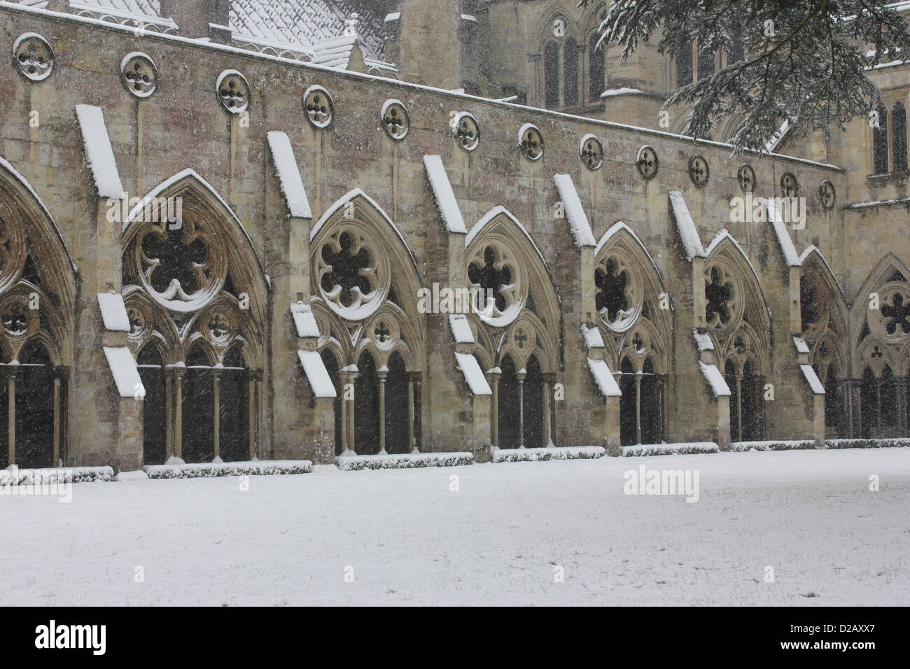
M 624 494 L 642 464 L 697 470 L 699 501 Z M 910 604 L 910 449 L 240 482 L 0 496 L 0 605 Z

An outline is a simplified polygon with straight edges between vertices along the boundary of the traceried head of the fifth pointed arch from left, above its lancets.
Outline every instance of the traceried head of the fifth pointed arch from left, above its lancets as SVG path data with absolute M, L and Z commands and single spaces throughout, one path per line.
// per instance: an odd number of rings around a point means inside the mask
M 672 322 L 662 309 L 667 295 L 660 269 L 641 239 L 622 221 L 607 230 L 594 250 L 595 308 L 608 344 L 611 369 L 628 355 L 636 371 L 649 357 L 659 373 L 669 369 Z M 669 305 L 667 305 L 669 306 Z

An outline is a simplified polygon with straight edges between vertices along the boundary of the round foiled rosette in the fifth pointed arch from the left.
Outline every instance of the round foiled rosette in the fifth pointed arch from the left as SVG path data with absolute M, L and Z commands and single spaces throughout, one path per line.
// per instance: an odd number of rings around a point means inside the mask
M 639 269 L 622 253 L 604 253 L 594 267 L 594 286 L 595 306 L 603 324 L 613 332 L 632 328 L 644 306 Z

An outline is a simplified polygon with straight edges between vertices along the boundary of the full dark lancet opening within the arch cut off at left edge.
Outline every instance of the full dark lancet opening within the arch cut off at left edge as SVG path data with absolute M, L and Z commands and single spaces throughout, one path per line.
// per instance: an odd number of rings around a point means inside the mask
M 44 344 L 19 353 L 15 392 L 15 461 L 23 469 L 54 467 L 54 373 Z

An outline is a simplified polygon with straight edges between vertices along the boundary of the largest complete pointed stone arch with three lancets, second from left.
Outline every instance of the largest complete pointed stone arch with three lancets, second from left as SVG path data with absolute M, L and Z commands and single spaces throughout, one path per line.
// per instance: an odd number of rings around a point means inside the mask
M 140 362 L 140 375 L 164 376 L 164 400 L 145 406 L 145 461 L 256 455 L 268 283 L 243 224 L 187 169 L 129 212 L 123 249 L 127 346 L 138 358 L 154 345 L 161 364 Z M 150 430 L 158 424 L 164 430 Z

